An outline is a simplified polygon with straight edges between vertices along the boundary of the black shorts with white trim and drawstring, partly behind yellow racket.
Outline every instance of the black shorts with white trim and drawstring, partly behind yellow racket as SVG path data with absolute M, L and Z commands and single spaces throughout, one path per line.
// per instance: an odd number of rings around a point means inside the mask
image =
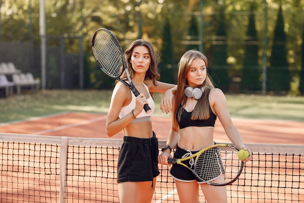
M 195 154 L 198 151 L 190 151 L 191 154 Z M 174 153 L 174 158 L 180 159 L 182 158 L 185 154 L 189 153 L 189 151 L 182 149 L 178 146 L 176 146 L 176 151 Z M 190 154 L 189 154 L 190 155 Z M 195 157 L 193 158 L 195 159 Z M 208 157 L 208 159 L 210 159 L 210 157 Z M 219 159 L 219 160 L 218 160 Z M 221 162 L 220 159 L 220 154 L 215 154 L 214 159 L 209 160 L 210 162 Z M 191 167 L 191 159 L 183 161 L 184 164 L 186 164 L 187 166 L 189 166 L 190 168 L 193 169 L 194 166 Z M 194 160 L 192 160 L 192 165 L 194 164 Z M 223 166 L 220 164 L 219 166 L 219 170 L 222 171 L 221 173 L 219 172 L 219 174 L 217 175 L 217 177 L 208 177 L 208 174 L 203 175 L 205 178 L 204 180 L 211 180 L 211 179 L 217 179 L 222 173 L 224 173 L 224 169 Z M 197 178 L 193 172 L 191 170 L 189 170 L 188 168 L 186 168 L 185 166 L 179 165 L 179 164 L 173 164 L 171 169 L 170 169 L 170 174 L 171 176 L 178 181 L 182 181 L 182 182 L 194 182 L 196 181 L 199 184 L 202 183 L 206 183 L 202 180 L 200 180 L 199 178 Z

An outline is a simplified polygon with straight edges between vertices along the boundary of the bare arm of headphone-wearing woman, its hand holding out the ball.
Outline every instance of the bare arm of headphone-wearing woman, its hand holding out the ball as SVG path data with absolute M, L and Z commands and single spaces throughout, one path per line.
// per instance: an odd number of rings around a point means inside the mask
M 220 89 L 212 89 L 209 93 L 209 103 L 212 111 L 218 116 L 220 123 L 231 142 L 236 148 L 247 149 L 249 151 L 250 156 L 246 161 L 250 161 L 252 159 L 252 153 L 250 149 L 245 146 L 238 129 L 232 122 L 224 93 Z

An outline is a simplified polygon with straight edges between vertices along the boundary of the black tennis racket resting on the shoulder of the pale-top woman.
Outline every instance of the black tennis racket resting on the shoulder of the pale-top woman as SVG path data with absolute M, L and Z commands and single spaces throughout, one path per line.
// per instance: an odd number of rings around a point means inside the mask
M 108 29 L 98 29 L 92 38 L 92 50 L 97 64 L 105 74 L 125 84 L 135 96 L 139 95 L 130 78 L 122 48 L 115 35 Z M 123 71 L 129 83 L 120 78 Z M 144 105 L 144 110 L 147 113 L 152 111 L 148 104 Z

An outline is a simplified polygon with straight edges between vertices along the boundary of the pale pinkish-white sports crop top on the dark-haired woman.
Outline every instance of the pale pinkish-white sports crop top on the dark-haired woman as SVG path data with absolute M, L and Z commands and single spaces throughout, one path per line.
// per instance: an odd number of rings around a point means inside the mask
M 147 91 L 149 92 L 149 89 L 148 87 L 144 84 L 145 88 L 147 89 Z M 131 90 L 130 90 L 131 92 Z M 125 115 L 127 115 L 128 113 L 130 113 L 134 108 L 135 108 L 135 95 L 133 92 L 131 92 L 132 94 L 132 100 L 130 102 L 129 105 L 125 106 L 125 107 L 122 107 L 120 112 L 119 112 L 119 115 L 118 117 L 119 118 L 122 118 L 124 117 Z M 131 121 L 131 123 L 138 123 L 138 122 L 145 122 L 145 121 L 150 121 L 150 117 L 151 115 L 153 114 L 154 110 L 155 110 L 155 103 L 154 103 L 154 100 L 149 92 L 149 98 L 147 99 L 148 103 L 149 103 L 149 107 L 152 109 L 152 111 L 150 113 L 146 113 L 146 111 L 143 109 L 137 116 L 136 118 Z

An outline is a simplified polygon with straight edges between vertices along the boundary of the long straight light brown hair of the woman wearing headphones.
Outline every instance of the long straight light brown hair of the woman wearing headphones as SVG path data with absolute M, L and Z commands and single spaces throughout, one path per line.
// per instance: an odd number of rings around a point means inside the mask
M 184 94 L 184 90 L 189 86 L 188 81 L 186 79 L 186 74 L 189 72 L 190 65 L 192 61 L 196 58 L 201 58 L 204 60 L 206 64 L 206 69 L 208 68 L 208 60 L 207 57 L 197 50 L 188 50 L 182 57 L 178 64 L 178 80 L 177 80 L 177 90 L 176 90 L 176 100 L 175 106 L 173 108 L 173 119 L 175 124 L 177 124 L 177 119 L 180 120 L 183 108 L 181 108 L 178 112 L 178 108 L 180 105 L 185 106 L 187 97 Z M 211 89 L 214 88 L 212 80 L 210 76 L 206 75 L 206 79 L 203 84 L 198 87 L 204 87 L 203 96 L 198 100 L 194 110 L 192 111 L 191 120 L 203 120 L 209 118 L 210 108 L 209 108 L 209 99 L 208 95 Z M 177 116 L 176 116 L 177 115 Z M 177 117 L 177 119 L 176 119 Z

